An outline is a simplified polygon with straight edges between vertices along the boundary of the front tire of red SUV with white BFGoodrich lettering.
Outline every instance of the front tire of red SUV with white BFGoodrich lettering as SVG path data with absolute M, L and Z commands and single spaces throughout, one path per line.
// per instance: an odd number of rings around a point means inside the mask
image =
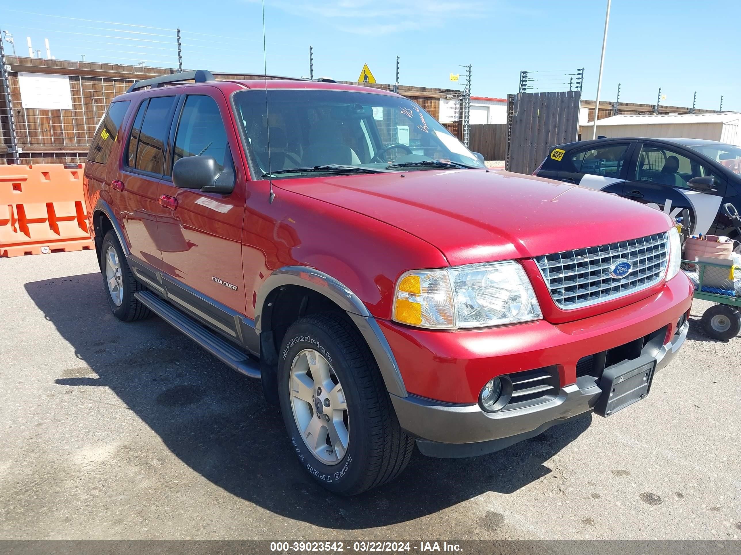
M 337 380 L 330 391 L 326 391 L 329 388 L 322 391 L 319 406 L 315 400 L 304 402 L 294 392 L 297 391 L 296 376 L 301 375 L 301 364 L 305 363 L 303 368 L 310 369 L 310 357 L 314 356 L 312 351 L 322 354 L 329 365 L 329 372 L 333 374 L 332 380 Z M 294 377 L 292 368 L 296 369 Z M 306 379 L 306 376 L 308 373 L 301 379 Z M 313 377 L 309 379 L 314 380 Z M 316 397 L 316 383 L 322 382 L 317 379 L 312 383 L 313 388 L 306 389 L 308 394 Z M 347 496 L 360 494 L 393 480 L 409 462 L 414 440 L 404 434 L 396 420 L 376 361 L 356 329 L 336 314 L 312 314 L 290 326 L 279 351 L 278 391 L 293 449 L 306 471 L 329 491 Z M 302 388 L 302 391 L 305 390 Z M 338 408 L 343 405 L 336 400 L 343 395 L 346 410 Z M 325 397 L 324 406 L 321 397 Z M 335 399 L 334 406 L 328 404 L 330 397 Z M 312 424 L 325 426 L 325 421 L 329 424 L 331 420 L 333 428 L 335 422 L 339 423 L 334 436 L 340 437 L 345 431 L 340 433 L 342 425 L 346 425 L 348 434 L 344 452 L 342 448 L 322 445 L 323 456 L 334 460 L 320 459 L 315 451 L 322 451 L 322 448 L 312 450 L 304 440 L 305 434 L 299 431 L 299 422 L 302 422 L 302 417 L 306 419 L 306 414 L 310 416 L 305 420 L 308 422 L 305 430 Z M 325 436 L 333 437 L 329 431 Z M 322 437 L 321 431 L 317 437 Z

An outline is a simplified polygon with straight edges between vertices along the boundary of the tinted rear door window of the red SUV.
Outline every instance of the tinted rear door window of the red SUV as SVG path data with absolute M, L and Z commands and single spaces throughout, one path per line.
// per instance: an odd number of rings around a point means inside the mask
M 130 167 L 143 172 L 162 174 L 165 161 L 165 134 L 175 98 L 156 96 L 139 107 L 129 138 L 127 160 Z

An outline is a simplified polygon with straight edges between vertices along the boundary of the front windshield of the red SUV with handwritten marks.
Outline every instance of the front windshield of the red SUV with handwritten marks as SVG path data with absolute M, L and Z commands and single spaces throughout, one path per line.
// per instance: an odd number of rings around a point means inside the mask
M 269 89 L 267 95 L 268 110 L 264 89 L 234 94 L 237 119 L 266 176 L 296 178 L 353 168 L 408 172 L 485 167 L 406 98 L 344 90 Z

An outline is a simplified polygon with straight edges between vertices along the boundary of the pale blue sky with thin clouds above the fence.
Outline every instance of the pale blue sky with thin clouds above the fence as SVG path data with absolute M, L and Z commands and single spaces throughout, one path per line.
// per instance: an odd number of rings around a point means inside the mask
M 263 70 L 259 1 L 3 4 L 0 28 L 23 55 L 31 36 L 42 53 L 49 38 L 56 58 L 171 67 L 170 30 L 180 27 L 185 67 Z M 353 80 L 365 63 L 379 82 L 392 83 L 398 54 L 402 84 L 455 88 L 449 75 L 472 64 L 473 94 L 500 97 L 516 92 L 520 70 L 545 72 L 542 90 L 553 90 L 559 70 L 584 67 L 584 96 L 594 98 L 605 7 L 602 0 L 265 0 L 268 73 L 308 75 L 312 44 L 315 76 Z M 741 110 L 738 26 L 737 1 L 614 0 L 601 99 L 614 100 L 621 83 L 621 101 L 653 104 L 662 87 L 663 104 L 689 106 L 697 90 L 698 108 L 717 110 L 723 95 L 724 110 Z

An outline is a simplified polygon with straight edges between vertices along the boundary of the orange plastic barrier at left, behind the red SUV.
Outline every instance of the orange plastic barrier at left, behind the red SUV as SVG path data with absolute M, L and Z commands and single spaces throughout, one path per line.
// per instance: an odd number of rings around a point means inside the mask
M 82 164 L 0 166 L 0 257 L 93 249 Z

